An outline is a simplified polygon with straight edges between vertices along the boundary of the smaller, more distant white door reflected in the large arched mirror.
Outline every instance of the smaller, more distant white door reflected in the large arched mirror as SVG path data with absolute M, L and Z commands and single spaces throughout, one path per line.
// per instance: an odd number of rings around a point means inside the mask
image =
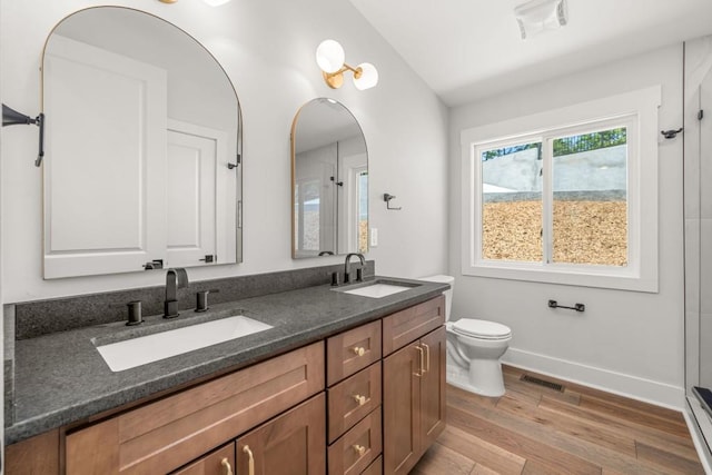
M 225 161 L 226 138 L 219 130 L 169 120 L 167 260 L 171 267 L 209 264 L 206 256 L 212 256 L 214 264 L 234 261 L 235 220 L 226 216 L 226 191 L 229 184 L 235 189 L 237 174 Z

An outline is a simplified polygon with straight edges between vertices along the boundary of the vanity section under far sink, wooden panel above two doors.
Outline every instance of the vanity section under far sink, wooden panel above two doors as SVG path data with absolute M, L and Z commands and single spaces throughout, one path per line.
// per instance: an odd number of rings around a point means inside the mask
M 445 428 L 444 315 L 438 297 L 383 320 L 385 474 L 407 474 Z

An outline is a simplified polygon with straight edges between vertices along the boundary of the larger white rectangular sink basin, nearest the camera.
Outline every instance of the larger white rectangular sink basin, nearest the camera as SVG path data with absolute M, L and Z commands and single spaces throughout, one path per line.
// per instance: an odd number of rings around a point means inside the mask
M 112 372 L 122 372 L 269 328 L 271 325 L 238 315 L 101 345 L 97 349 Z

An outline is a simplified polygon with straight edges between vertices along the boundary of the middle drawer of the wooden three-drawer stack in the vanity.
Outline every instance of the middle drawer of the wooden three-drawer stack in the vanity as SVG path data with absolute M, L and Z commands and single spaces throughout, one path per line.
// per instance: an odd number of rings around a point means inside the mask
M 380 405 L 380 362 L 329 388 L 329 444 Z

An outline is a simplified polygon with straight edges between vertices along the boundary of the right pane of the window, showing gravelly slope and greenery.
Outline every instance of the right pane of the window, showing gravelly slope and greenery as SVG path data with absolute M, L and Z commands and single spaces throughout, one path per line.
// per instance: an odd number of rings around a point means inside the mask
M 553 141 L 553 260 L 627 265 L 626 129 Z

